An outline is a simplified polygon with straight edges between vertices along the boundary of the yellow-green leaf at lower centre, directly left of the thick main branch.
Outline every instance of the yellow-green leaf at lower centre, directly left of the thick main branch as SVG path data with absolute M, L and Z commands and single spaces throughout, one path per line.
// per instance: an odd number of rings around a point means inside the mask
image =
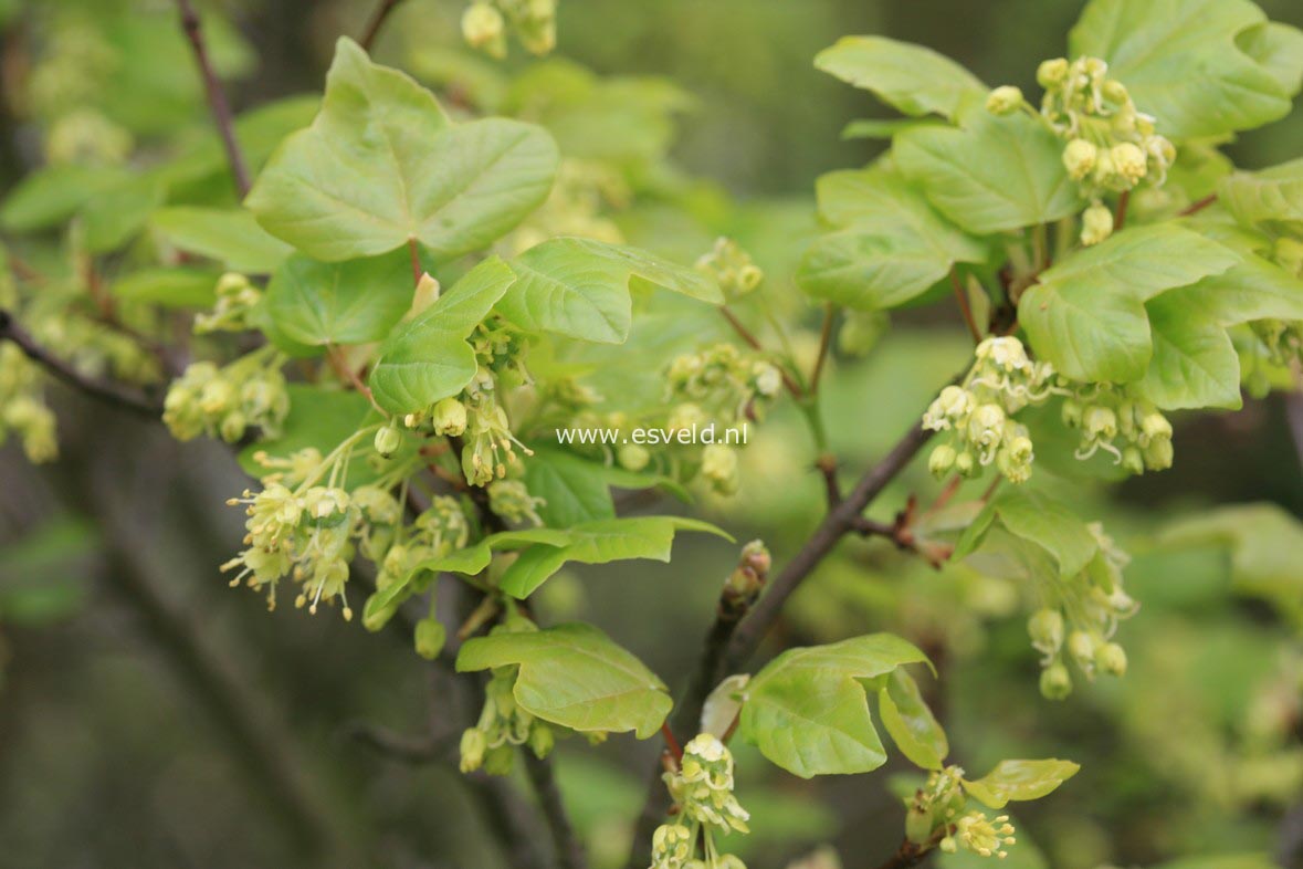
M 457 670 L 520 664 L 516 702 L 543 720 L 580 732 L 659 730 L 674 701 L 641 661 L 590 624 L 468 640 Z

